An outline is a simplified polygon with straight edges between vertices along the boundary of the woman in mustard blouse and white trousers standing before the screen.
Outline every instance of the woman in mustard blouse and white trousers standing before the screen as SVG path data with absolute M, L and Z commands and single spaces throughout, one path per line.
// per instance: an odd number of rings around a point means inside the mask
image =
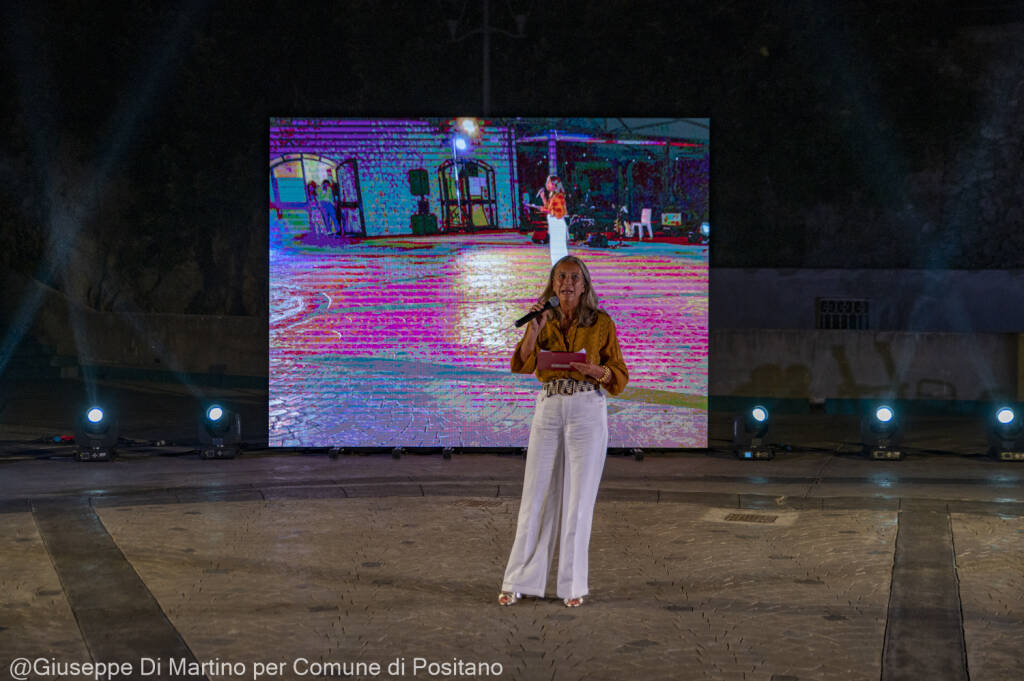
M 515 542 L 498 594 L 501 605 L 512 605 L 523 594 L 544 596 L 556 533 L 556 593 L 568 607 L 583 604 L 594 502 L 608 446 L 605 394 L 621 393 L 629 380 L 615 324 L 598 307 L 582 260 L 560 258 L 530 310 L 542 309 L 552 295 L 558 296 L 558 307 L 526 326 L 512 354 L 512 372 L 536 372 L 541 391 L 526 448 Z M 540 350 L 586 352 L 587 360 L 571 363 L 571 370 L 540 370 Z

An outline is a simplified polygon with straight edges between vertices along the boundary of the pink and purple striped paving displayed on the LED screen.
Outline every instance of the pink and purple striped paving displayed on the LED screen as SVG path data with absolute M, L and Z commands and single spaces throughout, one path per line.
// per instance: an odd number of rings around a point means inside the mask
M 539 384 L 509 359 L 547 246 L 517 232 L 271 244 L 271 445 L 525 445 Z M 570 253 L 630 370 L 609 446 L 706 446 L 708 248 Z

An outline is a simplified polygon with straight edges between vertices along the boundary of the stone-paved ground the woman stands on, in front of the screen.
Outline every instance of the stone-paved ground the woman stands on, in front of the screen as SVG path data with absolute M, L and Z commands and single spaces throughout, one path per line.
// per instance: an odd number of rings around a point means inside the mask
M 0 411 L 0 679 L 18 657 L 127 663 L 115 678 L 147 679 L 200 678 L 177 672 L 207 663 L 202 677 L 225 680 L 1024 670 L 1024 467 L 976 456 L 969 419 L 915 420 L 901 462 L 860 458 L 855 421 L 824 415 L 780 418 L 771 439 L 790 451 L 770 462 L 610 457 L 584 606 L 502 608 L 520 457 L 200 461 L 191 426 L 160 425 L 186 423 L 193 398 L 105 388 L 138 417 L 114 463 L 46 441 L 68 426 L 42 406 L 73 401 L 67 390 L 18 386 Z M 265 394 L 232 396 L 265 410 Z M 728 426 L 713 415 L 713 445 Z M 161 432 L 179 445 L 154 444 Z

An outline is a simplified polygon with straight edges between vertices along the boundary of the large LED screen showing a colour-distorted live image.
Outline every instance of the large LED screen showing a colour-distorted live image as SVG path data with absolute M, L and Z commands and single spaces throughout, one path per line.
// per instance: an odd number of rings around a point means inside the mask
M 707 446 L 709 122 L 685 121 L 271 119 L 270 444 L 525 446 L 540 382 L 510 359 L 554 175 L 629 369 L 609 446 Z

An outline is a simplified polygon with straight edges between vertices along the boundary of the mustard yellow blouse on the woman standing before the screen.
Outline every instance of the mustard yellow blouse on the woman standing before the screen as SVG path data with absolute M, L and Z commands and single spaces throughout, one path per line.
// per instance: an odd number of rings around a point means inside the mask
M 586 352 L 587 361 L 592 365 L 607 367 L 611 371 L 611 378 L 607 383 L 601 385 L 605 390 L 613 395 L 617 395 L 626 387 L 630 380 L 629 371 L 626 369 L 626 360 L 623 359 L 623 351 L 618 348 L 618 338 L 615 336 L 615 323 L 611 321 L 605 312 L 597 313 L 597 321 L 593 326 L 581 327 L 579 320 L 572 323 L 568 333 L 562 335 L 560 323 L 556 318 L 549 320 L 541 329 L 537 337 L 537 349 L 526 361 L 519 356 L 519 348 L 526 340 L 525 334 L 515 346 L 512 354 L 513 374 L 532 374 L 537 372 L 537 378 L 542 383 L 556 378 L 574 378 L 578 381 L 597 381 L 589 376 L 584 376 L 574 369 L 545 370 L 537 369 L 537 355 L 540 350 L 550 350 L 552 352 Z M 528 333 L 528 330 L 527 330 Z

